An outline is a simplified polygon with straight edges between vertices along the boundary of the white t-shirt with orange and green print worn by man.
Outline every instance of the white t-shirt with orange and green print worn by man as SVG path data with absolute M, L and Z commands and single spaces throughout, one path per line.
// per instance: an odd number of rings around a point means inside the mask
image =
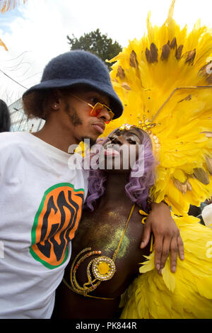
M 28 132 L 0 134 L 0 318 L 49 318 L 88 173 Z

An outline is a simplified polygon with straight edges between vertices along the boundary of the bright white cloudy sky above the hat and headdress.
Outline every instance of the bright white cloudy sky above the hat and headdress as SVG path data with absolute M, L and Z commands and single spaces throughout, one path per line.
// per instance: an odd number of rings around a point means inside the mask
M 45 65 L 69 51 L 67 35 L 76 38 L 100 29 L 112 40 L 128 45 L 146 32 L 146 18 L 160 26 L 167 18 L 171 0 L 28 0 L 0 13 L 0 98 L 8 105 L 30 86 L 40 82 Z M 192 30 L 201 24 L 212 28 L 211 0 L 176 0 L 174 18 Z M 12 79 L 9 79 L 11 77 Z

